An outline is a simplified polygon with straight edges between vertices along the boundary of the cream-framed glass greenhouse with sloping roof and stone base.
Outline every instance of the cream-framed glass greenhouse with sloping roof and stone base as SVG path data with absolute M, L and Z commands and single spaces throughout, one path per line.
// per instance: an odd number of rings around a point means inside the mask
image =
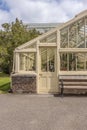
M 58 93 L 59 75 L 87 75 L 87 11 L 14 51 L 14 92 Z

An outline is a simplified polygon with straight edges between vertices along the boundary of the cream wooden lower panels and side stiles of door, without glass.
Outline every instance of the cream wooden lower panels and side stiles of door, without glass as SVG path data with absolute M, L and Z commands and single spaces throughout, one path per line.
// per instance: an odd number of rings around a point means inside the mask
M 48 72 L 41 70 L 41 55 L 39 55 L 39 93 L 57 93 L 58 85 L 57 85 L 57 68 L 56 68 L 56 52 L 55 48 L 55 71 Z

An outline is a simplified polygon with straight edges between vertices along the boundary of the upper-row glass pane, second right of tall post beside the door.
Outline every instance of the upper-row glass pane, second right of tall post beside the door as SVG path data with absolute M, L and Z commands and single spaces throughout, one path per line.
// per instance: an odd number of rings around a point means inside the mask
M 69 47 L 76 47 L 76 23 L 69 27 Z

